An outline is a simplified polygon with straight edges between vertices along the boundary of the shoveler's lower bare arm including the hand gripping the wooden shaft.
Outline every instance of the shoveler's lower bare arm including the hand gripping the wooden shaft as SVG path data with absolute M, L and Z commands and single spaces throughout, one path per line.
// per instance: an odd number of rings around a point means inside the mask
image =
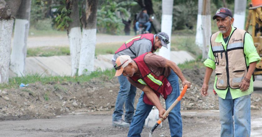
M 158 96 L 155 94 L 155 92 L 150 87 L 148 87 L 148 85 L 146 85 L 143 88 L 143 92 L 147 95 L 148 99 L 151 102 L 153 102 L 154 105 L 157 107 L 157 109 L 159 111 L 159 117 L 166 119 L 167 116 L 163 117 L 163 114 L 166 112 L 166 110 L 161 105 L 160 100 L 159 100 Z

